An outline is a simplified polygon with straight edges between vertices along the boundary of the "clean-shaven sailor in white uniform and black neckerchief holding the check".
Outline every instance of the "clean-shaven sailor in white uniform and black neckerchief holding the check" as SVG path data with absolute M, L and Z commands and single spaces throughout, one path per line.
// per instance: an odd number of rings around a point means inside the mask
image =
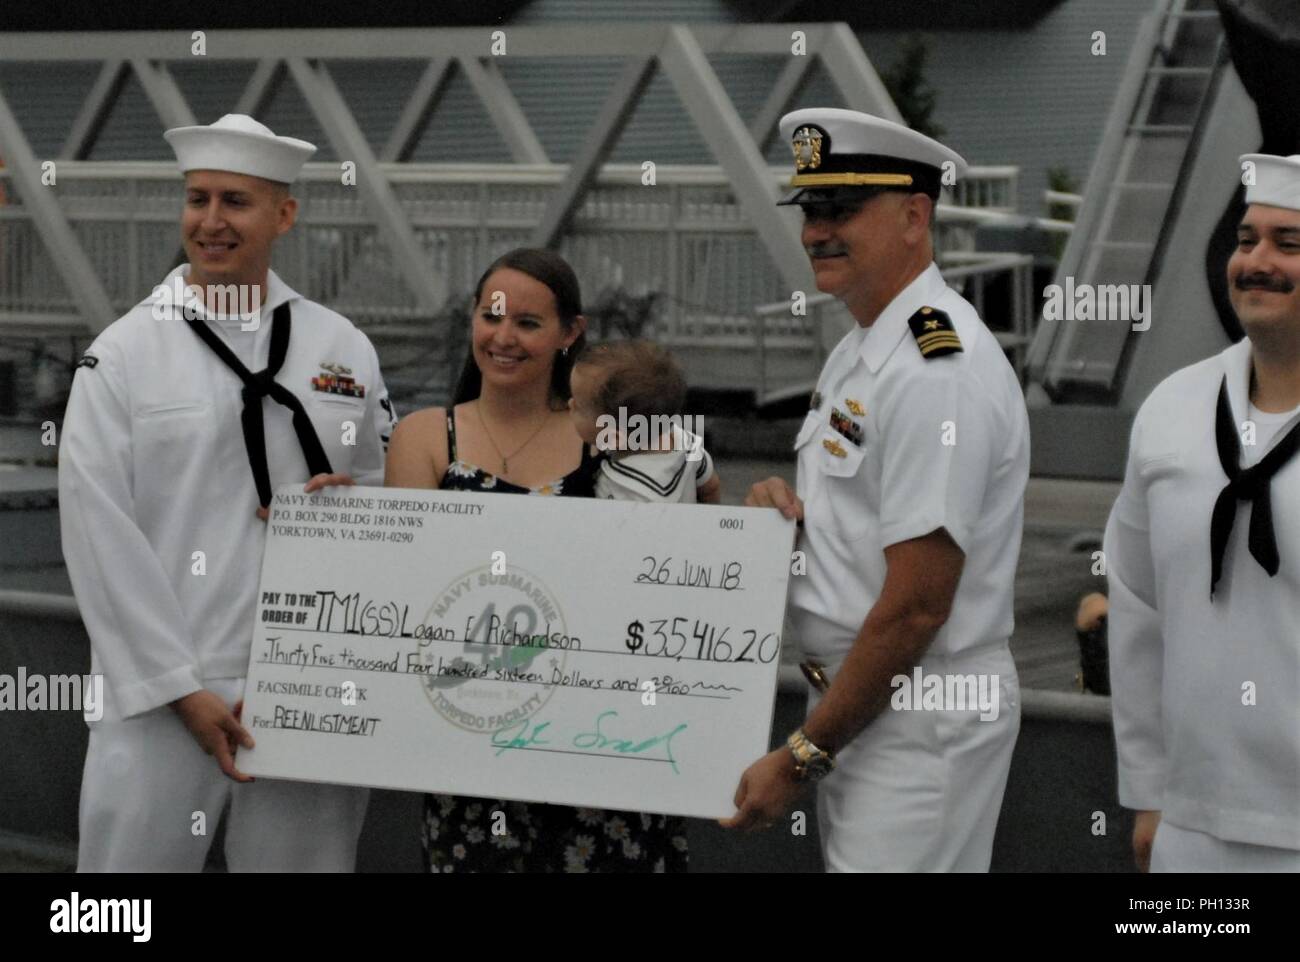
M 165 136 L 190 263 L 86 351 L 58 458 L 64 558 L 105 681 L 78 868 L 199 871 L 229 802 L 233 871 L 351 871 L 368 793 L 252 784 L 234 708 L 272 488 L 381 484 L 393 410 L 365 335 L 269 266 L 315 148 L 234 114 Z

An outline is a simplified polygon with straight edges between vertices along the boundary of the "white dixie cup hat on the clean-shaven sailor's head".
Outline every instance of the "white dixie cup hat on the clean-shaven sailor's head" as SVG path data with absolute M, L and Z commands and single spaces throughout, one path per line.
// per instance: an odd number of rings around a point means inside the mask
M 316 153 L 316 144 L 276 136 L 265 124 L 242 113 L 228 113 L 207 126 L 172 127 L 162 136 L 176 151 L 182 173 L 229 170 L 292 183 L 303 164 Z

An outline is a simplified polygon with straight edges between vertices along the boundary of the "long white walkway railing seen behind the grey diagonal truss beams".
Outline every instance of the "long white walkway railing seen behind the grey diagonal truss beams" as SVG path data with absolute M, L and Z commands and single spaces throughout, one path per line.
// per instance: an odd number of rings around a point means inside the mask
M 467 295 L 502 251 L 529 242 L 558 164 L 381 164 L 429 264 L 450 296 Z M 660 294 L 655 337 L 668 342 L 753 344 L 755 303 L 785 295 L 731 182 L 718 166 L 660 166 L 644 186 L 634 164 L 608 164 L 573 212 L 559 248 L 588 299 L 623 287 Z M 772 168 L 774 186 L 789 170 Z M 940 209 L 940 244 L 972 247 L 968 228 L 1015 195 L 1017 168 L 972 168 L 954 196 L 974 207 Z M 308 164 L 296 194 L 299 224 L 276 248 L 276 270 L 304 295 L 363 325 L 428 320 L 394 265 L 364 199 L 334 164 Z M 0 168 L 0 330 L 84 330 L 36 235 L 32 212 Z M 147 296 L 179 254 L 179 174 L 170 162 L 58 161 L 60 205 L 114 313 Z M 946 208 L 946 209 L 945 209 Z

